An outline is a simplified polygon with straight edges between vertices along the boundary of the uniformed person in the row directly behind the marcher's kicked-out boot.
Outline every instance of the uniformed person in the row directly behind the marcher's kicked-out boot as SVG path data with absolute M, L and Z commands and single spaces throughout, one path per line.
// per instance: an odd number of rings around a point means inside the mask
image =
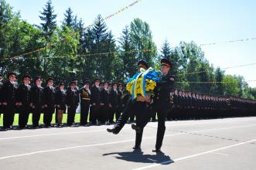
M 113 124 L 114 123 L 114 114 L 115 117 L 118 117 L 118 83 L 112 83 L 112 90 L 111 93 L 109 94 L 109 107 L 110 107 L 110 115 L 109 115 L 109 123 Z

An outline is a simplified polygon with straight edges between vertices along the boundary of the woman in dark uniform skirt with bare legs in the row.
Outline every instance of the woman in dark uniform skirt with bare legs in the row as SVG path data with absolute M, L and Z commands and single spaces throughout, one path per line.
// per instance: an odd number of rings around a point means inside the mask
M 55 93 L 55 105 L 58 127 L 62 128 L 63 113 L 66 111 L 66 91 L 64 90 L 65 84 L 61 81 L 58 90 Z

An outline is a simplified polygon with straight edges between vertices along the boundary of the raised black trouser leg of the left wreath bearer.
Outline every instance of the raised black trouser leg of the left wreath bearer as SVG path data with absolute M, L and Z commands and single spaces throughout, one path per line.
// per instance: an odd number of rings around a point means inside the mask
M 121 116 L 114 124 L 115 133 L 118 134 L 119 131 L 121 131 L 121 129 L 125 126 L 126 122 L 128 121 L 128 118 L 130 117 L 131 113 L 134 113 L 134 100 L 129 99 L 125 106 L 123 114 L 121 114 Z

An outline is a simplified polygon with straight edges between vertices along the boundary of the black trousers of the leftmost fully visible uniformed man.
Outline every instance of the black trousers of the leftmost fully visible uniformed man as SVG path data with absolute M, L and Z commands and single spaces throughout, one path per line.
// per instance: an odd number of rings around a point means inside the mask
M 12 126 L 15 116 L 15 104 L 8 104 L 4 106 L 3 125 L 4 128 Z

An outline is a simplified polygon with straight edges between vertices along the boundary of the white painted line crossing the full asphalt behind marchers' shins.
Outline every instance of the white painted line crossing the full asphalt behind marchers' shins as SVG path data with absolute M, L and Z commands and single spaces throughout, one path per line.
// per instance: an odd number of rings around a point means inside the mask
M 232 128 L 247 128 L 247 127 L 251 127 L 251 126 L 256 126 L 256 124 L 247 125 L 247 126 L 232 127 Z M 188 133 L 198 133 L 198 132 L 206 132 L 206 131 L 220 131 L 220 130 L 227 130 L 227 129 L 232 129 L 232 128 L 230 127 L 230 128 L 209 129 L 209 130 L 204 130 L 204 131 L 190 131 Z M 187 134 L 187 133 L 167 134 L 167 135 L 165 135 L 165 137 L 171 137 L 171 136 L 176 136 L 176 135 L 181 135 L 181 134 Z M 143 139 L 147 140 L 147 139 L 152 139 L 152 138 L 155 138 L 155 137 L 148 137 L 148 138 L 143 138 Z M 128 140 L 125 140 L 125 141 L 113 141 L 113 142 L 94 144 L 94 145 L 80 145 L 80 146 L 73 146 L 73 147 L 68 147 L 68 148 L 57 148 L 57 149 L 50 149 L 50 150 L 44 150 L 44 151 L 33 151 L 33 152 L 26 153 L 26 154 L 10 155 L 10 156 L 5 156 L 5 157 L 0 157 L 0 160 L 6 159 L 6 158 L 22 157 L 22 156 L 26 156 L 26 155 L 35 155 L 35 154 L 51 152 L 51 151 L 63 151 L 63 150 L 68 150 L 68 149 L 73 149 L 73 148 L 88 148 L 88 147 L 94 147 L 94 146 L 112 145 L 112 144 L 124 143 L 124 142 L 128 142 L 128 141 L 135 141 L 135 139 L 128 139 Z

